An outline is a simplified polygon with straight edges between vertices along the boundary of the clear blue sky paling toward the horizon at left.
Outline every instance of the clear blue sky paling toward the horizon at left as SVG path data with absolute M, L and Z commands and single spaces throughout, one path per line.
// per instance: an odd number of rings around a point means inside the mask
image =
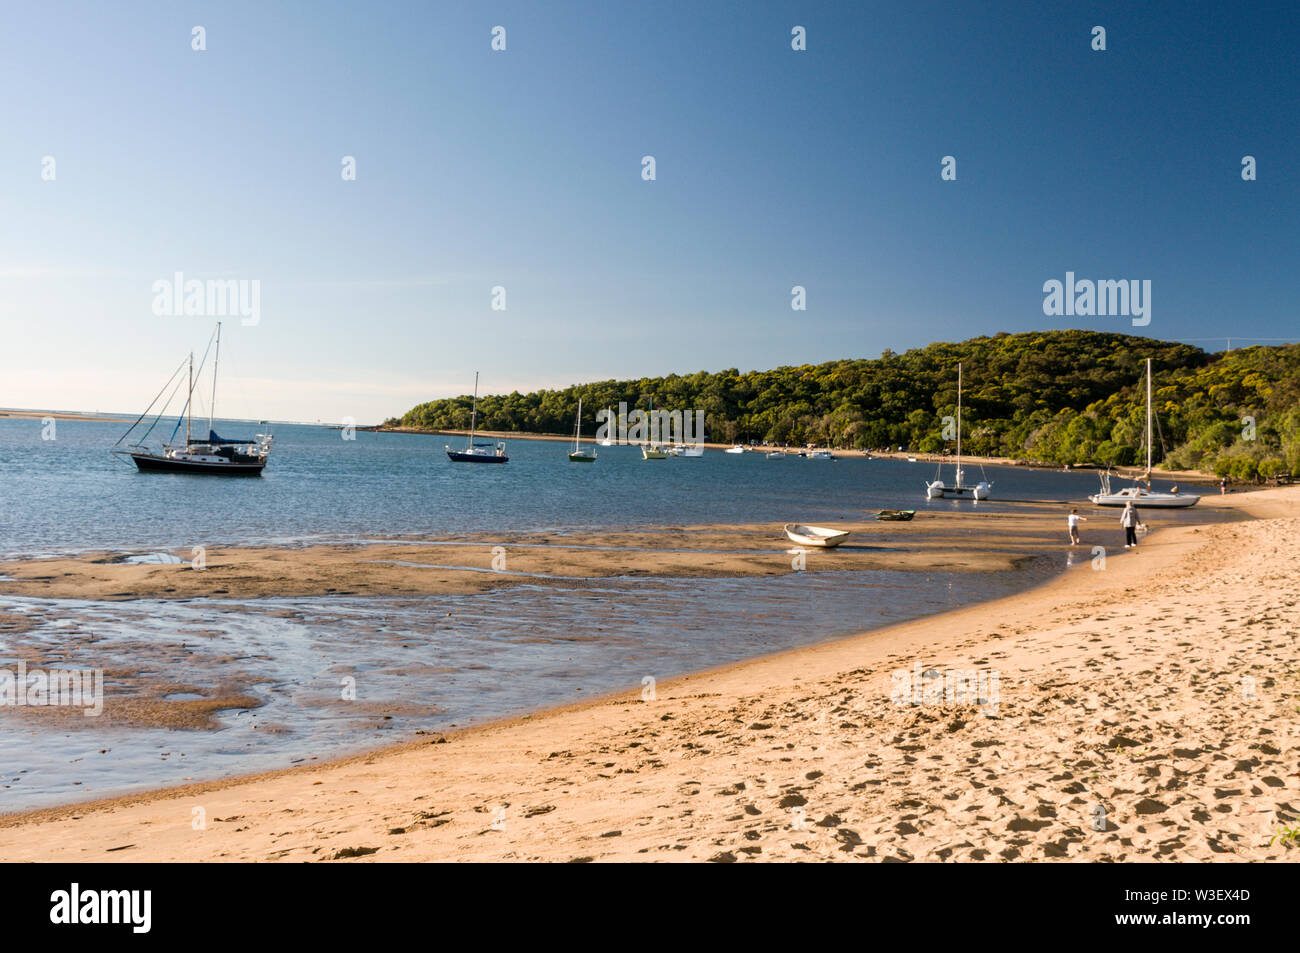
M 176 272 L 261 282 L 218 410 L 292 420 L 377 421 L 476 369 L 502 391 L 1002 330 L 1300 335 L 1294 3 L 6 17 L 0 406 L 143 410 L 213 324 L 153 313 Z M 1044 316 L 1067 270 L 1150 280 L 1150 324 Z

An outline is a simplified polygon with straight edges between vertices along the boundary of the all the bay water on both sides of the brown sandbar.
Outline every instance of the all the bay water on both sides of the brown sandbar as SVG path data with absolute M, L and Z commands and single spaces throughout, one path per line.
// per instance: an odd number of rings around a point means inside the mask
M 0 555 L 708 523 L 775 529 L 861 520 L 884 507 L 975 506 L 926 501 L 935 467 L 924 463 L 722 451 L 650 463 L 636 447 L 601 447 L 589 465 L 568 463 L 564 443 L 511 439 L 511 462 L 484 467 L 446 459 L 443 443 L 464 438 L 360 432 L 344 441 L 339 430 L 294 425 L 274 428 L 261 478 L 142 475 L 108 454 L 125 426 L 57 421 L 49 441 L 39 420 L 0 419 Z M 257 428 L 218 421 L 216 429 L 235 437 Z M 976 475 L 979 467 L 968 468 Z M 989 467 L 987 476 L 1000 501 L 978 504 L 982 511 L 1011 508 L 1013 499 L 1082 502 L 1097 485 L 1083 472 Z M 221 712 L 216 731 L 0 712 L 0 811 L 283 767 L 416 729 L 636 689 L 647 675 L 666 679 L 1008 595 L 1067 560 L 1065 553 L 1040 556 L 1001 573 L 525 580 L 417 599 L 0 595 L 0 614 L 32 623 L 0 636 L 3 668 L 35 653 L 57 667 L 131 672 L 173 697 L 239 685 L 261 702 Z M 1086 553 L 1074 554 L 1080 560 L 1087 564 Z M 342 701 L 342 679 L 355 679 L 356 701 Z M 112 679 L 105 692 L 112 696 Z

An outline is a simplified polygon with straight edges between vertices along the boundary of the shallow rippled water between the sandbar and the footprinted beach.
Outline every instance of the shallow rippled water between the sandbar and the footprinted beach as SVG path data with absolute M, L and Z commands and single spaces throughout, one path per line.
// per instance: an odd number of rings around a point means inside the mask
M 763 579 L 601 580 L 419 599 L 55 602 L 0 597 L 36 620 L 21 636 L 100 666 L 238 683 L 265 703 L 217 731 L 40 722 L 4 712 L 0 810 L 285 767 L 511 712 L 640 690 L 673 675 L 810 645 L 1034 585 L 1004 573 L 818 572 Z M 86 636 L 94 636 L 88 644 Z M 12 667 L 13 637 L 0 638 Z M 6 644 L 8 642 L 8 644 Z M 344 701 L 343 680 L 356 699 Z M 113 679 L 105 677 L 112 699 Z M 387 718 L 386 718 L 387 716 Z

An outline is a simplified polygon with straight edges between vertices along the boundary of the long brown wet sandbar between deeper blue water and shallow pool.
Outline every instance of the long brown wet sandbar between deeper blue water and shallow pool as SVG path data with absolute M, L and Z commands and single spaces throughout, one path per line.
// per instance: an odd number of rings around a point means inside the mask
M 1121 533 L 1101 511 L 1093 540 Z M 1158 520 L 1157 520 L 1158 521 Z M 918 514 L 910 523 L 840 520 L 852 538 L 809 549 L 807 572 L 1014 568 L 1060 551 L 1060 506 L 1011 512 Z M 1114 524 L 1114 525 L 1113 525 Z M 1105 527 L 1105 528 L 1102 528 Z M 780 525 L 663 527 L 585 536 L 506 533 L 304 547 L 214 547 L 195 568 L 192 550 L 176 564 L 131 564 L 126 554 L 91 553 L 0 563 L 0 593 L 77 599 L 263 598 L 272 595 L 430 595 L 546 584 L 547 579 L 774 576 L 793 571 Z

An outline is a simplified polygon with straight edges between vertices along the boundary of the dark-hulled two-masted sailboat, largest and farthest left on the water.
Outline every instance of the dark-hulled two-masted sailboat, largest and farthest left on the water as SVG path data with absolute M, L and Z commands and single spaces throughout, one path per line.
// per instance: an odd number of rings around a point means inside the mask
M 157 403 L 159 398 L 168 389 L 172 381 L 177 381 L 176 387 L 172 390 L 172 395 L 168 397 L 168 403 L 170 403 L 172 397 L 181 386 L 181 381 L 177 380 L 181 373 L 178 367 L 172 372 L 172 377 L 168 382 L 162 385 L 162 390 L 157 393 L 148 407 L 144 408 L 144 413 L 135 419 L 126 433 L 117 438 L 117 443 L 113 445 L 113 452 L 121 456 L 130 456 L 135 462 L 135 467 L 140 472 L 156 472 L 156 473 L 204 473 L 212 476 L 260 476 L 261 471 L 266 468 L 266 458 L 270 454 L 272 434 L 259 433 L 252 439 L 231 439 L 229 437 L 218 437 L 217 432 L 212 429 L 213 421 L 216 420 L 217 412 L 217 363 L 221 358 L 221 322 L 217 322 L 217 329 L 213 332 L 213 338 L 216 341 L 216 351 L 212 359 L 212 404 L 208 407 L 208 437 L 207 439 L 194 439 L 194 389 L 196 377 L 194 372 L 194 352 L 190 352 L 188 364 L 188 386 L 186 387 L 186 400 L 185 400 L 185 443 L 173 445 L 172 441 L 176 439 L 177 433 L 181 430 L 181 417 L 177 419 L 176 426 L 172 429 L 172 437 L 162 443 L 161 449 L 153 450 L 144 443 L 148 439 L 150 432 L 157 425 L 159 420 L 166 412 L 166 403 L 162 404 L 161 410 L 153 423 L 144 430 L 139 439 L 134 443 L 127 443 L 125 450 L 117 450 L 122 441 L 130 437 L 131 432 L 140 424 L 144 417 L 150 415 L 153 410 L 153 404 Z M 209 347 L 212 341 L 208 342 Z M 207 351 L 204 351 L 203 361 L 199 364 L 199 374 L 203 373 L 203 364 L 207 361 Z M 181 367 L 186 367 L 186 361 L 182 361 Z M 185 378 L 182 378 L 185 380 Z

